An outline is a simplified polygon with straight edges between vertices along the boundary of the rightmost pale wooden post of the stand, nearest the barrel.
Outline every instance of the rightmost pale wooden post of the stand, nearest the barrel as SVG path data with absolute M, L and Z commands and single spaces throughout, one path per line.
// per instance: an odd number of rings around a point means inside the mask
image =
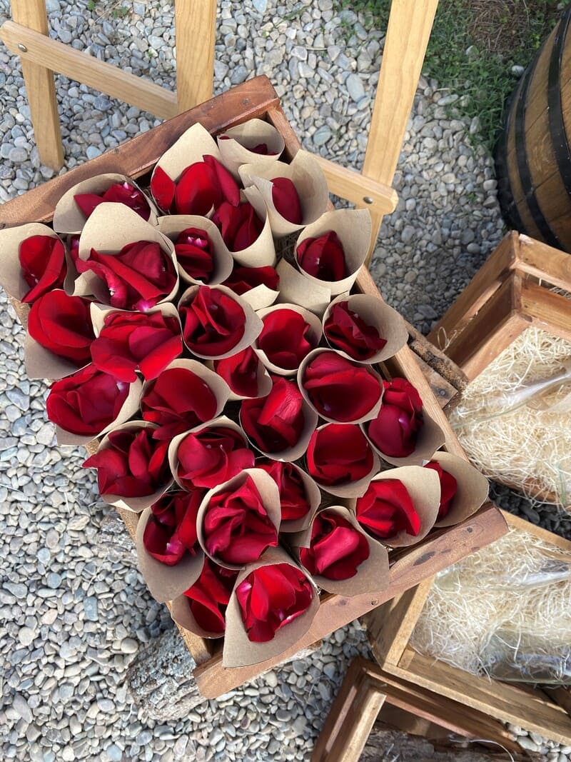
M 363 171 L 366 177 L 392 185 L 438 0 L 392 0 L 381 74 L 368 133 Z M 359 204 L 366 207 L 366 202 Z M 383 215 L 371 209 L 369 264 Z

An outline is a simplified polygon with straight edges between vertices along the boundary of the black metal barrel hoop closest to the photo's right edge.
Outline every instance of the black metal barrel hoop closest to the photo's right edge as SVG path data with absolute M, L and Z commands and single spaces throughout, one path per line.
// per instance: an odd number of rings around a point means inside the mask
M 571 7 L 569 7 L 561 19 L 557 27 L 555 40 L 553 40 L 553 50 L 551 51 L 549 74 L 547 77 L 547 114 L 549 117 L 551 144 L 553 145 L 557 168 L 565 190 L 568 194 L 571 194 L 571 147 L 569 147 L 565 122 L 563 121 L 560 78 L 569 24 L 571 24 Z

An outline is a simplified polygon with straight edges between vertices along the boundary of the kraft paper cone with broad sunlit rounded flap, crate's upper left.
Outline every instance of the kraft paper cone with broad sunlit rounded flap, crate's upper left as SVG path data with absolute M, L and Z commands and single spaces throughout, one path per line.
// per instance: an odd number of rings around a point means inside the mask
M 123 246 L 137 241 L 152 241 L 158 243 L 162 251 L 171 260 L 176 280 L 171 293 L 168 293 L 158 304 L 170 302 L 178 291 L 179 275 L 177 258 L 174 255 L 174 244 L 157 227 L 145 223 L 145 220 L 132 209 L 122 203 L 100 203 L 85 223 L 79 238 L 79 258 L 89 259 L 91 249 L 100 254 L 119 254 Z M 104 283 L 92 272 L 82 273 L 75 281 L 75 296 L 92 294 L 102 303 L 109 299 Z

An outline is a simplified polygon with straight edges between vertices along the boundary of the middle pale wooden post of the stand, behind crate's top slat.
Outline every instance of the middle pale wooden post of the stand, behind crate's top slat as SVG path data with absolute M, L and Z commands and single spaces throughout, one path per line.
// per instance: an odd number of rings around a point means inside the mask
M 176 0 L 174 28 L 180 113 L 212 98 L 216 0 Z

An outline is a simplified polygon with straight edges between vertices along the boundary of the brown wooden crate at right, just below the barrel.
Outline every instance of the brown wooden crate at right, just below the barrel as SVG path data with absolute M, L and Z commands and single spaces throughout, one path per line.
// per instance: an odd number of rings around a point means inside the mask
M 531 325 L 571 341 L 570 297 L 571 256 L 510 232 L 428 338 L 474 379 Z

